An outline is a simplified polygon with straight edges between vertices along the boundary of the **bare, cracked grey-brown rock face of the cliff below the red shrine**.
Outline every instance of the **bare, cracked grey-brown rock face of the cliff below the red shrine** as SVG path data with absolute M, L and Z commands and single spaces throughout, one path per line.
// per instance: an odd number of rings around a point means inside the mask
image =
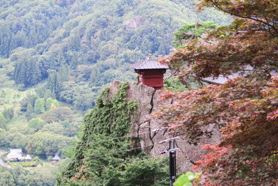
M 117 92 L 120 82 L 113 82 L 110 87 L 111 96 Z M 163 131 L 158 132 L 152 139 L 152 130 L 163 127 L 159 121 L 148 121 L 149 114 L 158 111 L 161 102 L 158 102 L 159 94 L 162 91 L 154 91 L 154 88 L 129 83 L 126 99 L 136 100 L 138 102 L 138 109 L 135 114 L 131 116 L 131 127 L 129 137 L 133 139 L 140 139 L 142 150 L 149 153 L 153 157 L 165 157 L 168 154 L 158 155 L 159 153 L 167 150 L 169 144 L 158 144 L 159 141 L 172 137 L 168 132 L 163 135 Z M 172 100 L 167 100 L 171 104 Z M 169 123 L 170 124 L 170 123 Z M 200 155 L 204 154 L 204 150 L 200 150 L 202 144 L 216 144 L 220 141 L 220 134 L 213 126 L 204 128 L 204 130 L 212 131 L 213 135 L 210 138 L 202 137 L 197 146 L 189 144 L 186 137 L 181 136 L 177 141 L 181 151 L 177 152 L 177 169 L 179 171 L 188 171 L 193 166 L 194 161 L 199 160 Z

